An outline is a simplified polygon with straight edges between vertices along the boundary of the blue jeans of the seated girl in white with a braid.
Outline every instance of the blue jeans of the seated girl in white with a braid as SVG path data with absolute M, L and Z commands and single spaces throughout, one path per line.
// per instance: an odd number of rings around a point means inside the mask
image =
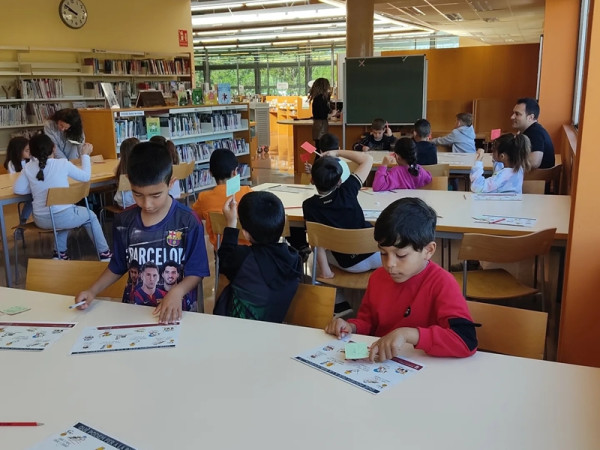
M 76 206 L 70 205 L 68 208 L 55 213 L 54 214 L 54 224 L 56 228 L 67 228 L 64 231 L 58 231 L 57 240 L 58 240 L 58 248 L 56 249 L 59 252 L 67 251 L 67 236 L 69 234 L 70 228 L 77 228 L 83 223 L 85 223 L 88 218 L 91 219 L 91 224 L 88 223 L 84 225 L 85 231 L 87 231 L 90 239 L 94 240 L 96 249 L 99 253 L 104 253 L 108 251 L 108 244 L 106 243 L 106 238 L 104 237 L 104 233 L 102 232 L 102 227 L 98 222 L 98 218 L 93 211 L 89 211 L 88 217 L 88 209 L 84 206 Z M 33 216 L 35 220 L 35 224 L 40 228 L 52 229 L 52 220 L 50 219 L 50 213 L 47 216 Z M 94 230 L 94 234 L 92 235 L 92 229 Z

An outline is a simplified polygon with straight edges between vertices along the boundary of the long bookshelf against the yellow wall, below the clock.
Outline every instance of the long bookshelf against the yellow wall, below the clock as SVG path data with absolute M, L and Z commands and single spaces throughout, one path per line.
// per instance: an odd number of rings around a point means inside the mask
M 189 54 L 40 47 L 0 47 L 0 151 L 14 135 L 31 134 L 61 108 L 102 107 L 100 83 L 120 104 L 137 92 L 191 89 Z M 86 130 L 87 132 L 87 130 Z

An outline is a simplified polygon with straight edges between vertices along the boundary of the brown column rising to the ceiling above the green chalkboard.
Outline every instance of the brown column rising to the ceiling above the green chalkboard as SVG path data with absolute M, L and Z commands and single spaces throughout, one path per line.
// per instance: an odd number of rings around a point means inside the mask
M 373 56 L 374 0 L 346 1 L 346 56 Z

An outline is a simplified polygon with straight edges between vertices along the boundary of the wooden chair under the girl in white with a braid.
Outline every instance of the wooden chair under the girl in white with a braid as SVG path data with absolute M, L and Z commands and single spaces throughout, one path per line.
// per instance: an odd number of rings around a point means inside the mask
M 56 226 L 54 225 L 54 213 L 53 213 L 53 206 L 56 205 L 74 205 L 76 203 L 78 203 L 81 200 L 84 200 L 85 202 L 85 207 L 88 210 L 88 220 L 82 224 L 81 226 L 84 226 L 88 223 L 91 222 L 91 214 L 93 214 L 90 210 L 90 205 L 88 203 L 87 200 L 87 196 L 90 193 L 90 183 L 74 183 L 72 185 L 70 185 L 69 187 L 59 187 L 59 188 L 50 188 L 48 189 L 48 195 L 46 197 L 46 206 L 49 208 L 50 210 L 50 219 L 52 221 L 52 230 L 46 229 L 46 228 L 40 228 L 38 227 L 35 222 L 27 222 L 25 224 L 21 224 L 21 225 L 17 225 L 15 226 L 14 229 L 14 239 L 15 239 L 15 280 L 18 280 L 18 268 L 19 268 L 19 255 L 18 255 L 18 251 L 17 249 L 19 248 L 18 245 L 16 245 L 16 240 L 17 240 L 17 233 L 19 232 L 19 230 L 22 230 L 22 233 L 25 233 L 25 231 L 27 230 L 35 230 L 38 231 L 39 233 L 48 233 L 50 231 L 52 231 L 54 233 L 54 245 L 56 247 L 56 251 L 58 252 L 58 231 L 65 231 L 65 230 L 71 230 L 72 228 L 56 228 Z M 92 228 L 92 236 L 94 234 L 93 228 Z M 94 247 L 96 246 L 96 239 L 94 236 L 94 239 L 92 239 Z M 100 255 L 98 254 L 98 249 L 96 248 L 96 255 L 98 256 L 98 259 L 100 259 Z

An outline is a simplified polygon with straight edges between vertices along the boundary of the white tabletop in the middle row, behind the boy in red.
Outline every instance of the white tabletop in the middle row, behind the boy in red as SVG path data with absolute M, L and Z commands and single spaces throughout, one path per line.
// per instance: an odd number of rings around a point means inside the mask
M 290 186 L 290 192 L 277 186 Z M 275 188 L 275 189 L 274 189 Z M 302 202 L 316 193 L 314 186 L 264 183 L 253 190 L 269 190 L 281 199 L 291 221 L 303 221 Z M 293 191 L 293 192 L 291 192 Z M 418 197 L 436 210 L 436 233 L 439 237 L 461 239 L 463 233 L 521 235 L 546 228 L 556 228 L 555 242 L 564 245 L 569 234 L 571 197 L 568 195 L 523 194 L 520 201 L 476 200 L 471 192 L 396 189 L 389 192 L 362 190 L 358 200 L 364 210 L 381 211 L 394 200 Z M 482 215 L 535 218 L 532 228 L 502 224 L 477 223 L 473 217 Z

